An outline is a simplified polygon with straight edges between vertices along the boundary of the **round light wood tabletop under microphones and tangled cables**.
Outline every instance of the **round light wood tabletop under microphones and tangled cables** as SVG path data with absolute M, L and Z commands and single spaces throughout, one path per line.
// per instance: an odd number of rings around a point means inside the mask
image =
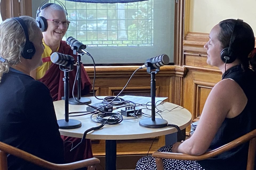
M 92 101 L 91 104 L 99 103 L 101 100 L 96 99 L 95 97 L 89 97 Z M 102 97 L 101 97 L 102 98 Z M 64 100 L 54 101 L 54 108 L 57 116 L 57 120 L 65 119 L 65 102 Z M 191 123 L 191 113 L 185 108 L 175 108 L 178 105 L 164 102 L 163 104 L 157 105 L 157 109 L 165 110 L 159 113 L 163 119 L 167 120 L 168 124 L 178 125 L 180 129 L 185 129 Z M 70 105 L 69 104 L 69 112 L 81 112 L 86 111 L 87 105 Z M 146 107 L 140 107 L 146 108 Z M 150 107 L 149 107 L 150 108 Z M 173 109 L 175 108 L 175 109 Z M 156 111 L 157 111 L 156 109 Z M 171 110 L 172 111 L 168 111 Z M 124 108 L 123 108 L 124 110 Z M 120 111 L 117 109 L 113 112 Z M 150 110 L 143 109 L 143 113 L 151 115 Z M 75 115 L 75 114 L 72 114 Z M 90 114 L 78 117 L 69 117 L 69 119 L 76 119 L 82 122 L 82 126 L 77 129 L 59 129 L 61 135 L 82 138 L 82 135 L 85 130 L 98 126 L 100 124 L 92 122 L 90 120 Z M 155 116 L 156 118 L 161 118 L 158 114 Z M 94 115 L 95 119 L 96 116 Z M 125 117 L 123 118 L 133 118 L 133 117 Z M 103 140 L 123 140 L 123 139 L 142 139 L 142 138 L 150 138 L 157 137 L 162 135 L 167 135 L 171 133 L 177 132 L 176 128 L 173 127 L 165 127 L 165 128 L 144 128 L 139 126 L 139 121 L 143 118 L 147 118 L 144 116 L 139 116 L 138 119 L 131 120 L 123 120 L 121 123 L 117 125 L 105 125 L 103 128 L 99 130 L 94 130 L 87 133 L 87 139 L 103 139 Z

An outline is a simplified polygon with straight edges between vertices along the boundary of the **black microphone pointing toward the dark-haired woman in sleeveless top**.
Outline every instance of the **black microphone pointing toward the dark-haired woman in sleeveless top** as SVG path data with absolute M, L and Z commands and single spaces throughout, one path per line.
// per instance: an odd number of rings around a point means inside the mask
M 157 69 L 161 66 L 169 64 L 169 57 L 166 54 L 163 54 L 161 56 L 153 57 L 150 59 L 147 59 L 143 66 L 141 66 L 141 69 L 151 67 L 152 69 Z

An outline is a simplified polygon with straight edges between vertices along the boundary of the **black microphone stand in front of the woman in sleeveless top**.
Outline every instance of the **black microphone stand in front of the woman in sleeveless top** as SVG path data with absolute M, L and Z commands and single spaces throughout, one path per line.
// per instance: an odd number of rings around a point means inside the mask
M 151 118 L 145 118 L 139 121 L 139 125 L 145 128 L 163 128 L 168 125 L 166 120 L 155 118 L 155 74 L 157 74 L 159 70 L 159 67 L 155 69 L 150 62 L 147 62 L 147 73 L 151 74 Z

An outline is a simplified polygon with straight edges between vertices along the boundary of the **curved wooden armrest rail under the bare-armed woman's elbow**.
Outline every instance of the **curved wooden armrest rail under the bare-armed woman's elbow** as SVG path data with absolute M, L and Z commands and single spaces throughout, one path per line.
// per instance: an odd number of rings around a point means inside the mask
M 226 145 L 223 145 L 219 148 L 216 148 L 212 151 L 206 152 L 199 156 L 181 154 L 181 153 L 172 153 L 172 152 L 158 152 L 158 151 L 154 152 L 152 154 L 152 156 L 155 158 L 162 158 L 162 159 L 203 160 L 203 159 L 212 158 L 214 156 L 222 154 L 223 152 L 231 150 L 247 141 L 250 141 L 251 139 L 253 139 L 255 137 L 256 137 L 256 129 L 243 135 L 240 138 L 235 139 L 234 141 L 227 143 Z

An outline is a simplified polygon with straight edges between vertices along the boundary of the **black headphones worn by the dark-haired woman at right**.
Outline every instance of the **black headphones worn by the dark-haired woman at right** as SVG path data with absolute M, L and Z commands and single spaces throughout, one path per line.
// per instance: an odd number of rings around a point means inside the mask
M 243 24 L 243 20 L 242 19 L 237 19 L 236 22 L 235 22 L 235 26 L 233 28 L 233 31 L 232 31 L 232 35 L 231 35 L 231 38 L 230 38 L 230 42 L 229 42 L 229 47 L 226 47 L 224 48 L 222 51 L 221 51 L 221 60 L 225 63 L 232 63 L 235 61 L 236 59 L 236 56 L 234 56 L 234 53 L 232 53 L 232 44 L 234 43 L 235 41 L 235 38 L 237 36 L 237 33 L 238 33 L 238 28 Z

